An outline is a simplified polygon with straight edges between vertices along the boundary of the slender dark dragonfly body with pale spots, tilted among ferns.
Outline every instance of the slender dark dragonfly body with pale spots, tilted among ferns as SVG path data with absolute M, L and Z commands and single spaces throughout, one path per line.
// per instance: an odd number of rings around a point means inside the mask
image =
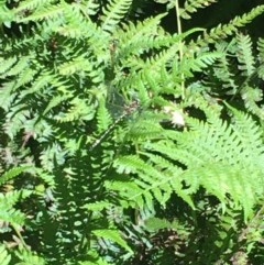
M 94 151 L 105 137 L 121 122 L 125 117 L 132 114 L 139 108 L 139 100 L 133 100 L 131 103 L 123 107 L 122 113 L 114 120 L 114 122 L 90 146 L 89 151 Z

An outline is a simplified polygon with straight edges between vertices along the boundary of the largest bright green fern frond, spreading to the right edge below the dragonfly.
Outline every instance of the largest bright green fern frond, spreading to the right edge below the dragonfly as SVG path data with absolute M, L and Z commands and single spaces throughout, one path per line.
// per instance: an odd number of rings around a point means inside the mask
M 144 198 L 146 205 L 151 205 L 153 198 L 165 203 L 175 191 L 195 207 L 190 195 L 204 186 L 222 203 L 230 195 L 243 207 L 248 219 L 263 192 L 263 132 L 249 115 L 233 113 L 231 125 L 217 115 L 209 117 L 207 123 L 188 118 L 189 131 L 168 131 L 166 135 L 170 141 L 142 145 L 146 150 L 142 153 L 146 162 L 138 156 L 119 157 L 114 162 L 118 172 L 138 176 L 132 186 L 125 184 L 125 189 L 120 190 L 122 197 L 131 201 Z M 251 184 L 248 176 L 254 179 Z M 113 189 L 118 188 L 112 185 Z M 244 194 L 249 195 L 246 199 Z

